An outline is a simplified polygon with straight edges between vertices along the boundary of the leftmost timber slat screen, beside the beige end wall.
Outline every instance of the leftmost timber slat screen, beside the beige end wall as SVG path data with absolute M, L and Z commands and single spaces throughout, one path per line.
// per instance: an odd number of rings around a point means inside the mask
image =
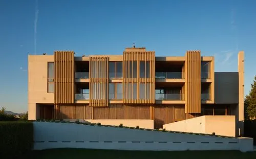
M 54 52 L 54 103 L 74 103 L 74 52 Z

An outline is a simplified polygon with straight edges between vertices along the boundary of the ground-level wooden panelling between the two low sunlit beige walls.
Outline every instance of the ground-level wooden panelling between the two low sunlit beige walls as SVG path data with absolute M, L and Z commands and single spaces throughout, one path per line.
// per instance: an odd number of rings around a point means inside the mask
M 156 104 L 154 107 L 154 128 L 163 128 L 163 124 L 174 122 L 174 106 L 167 104 Z

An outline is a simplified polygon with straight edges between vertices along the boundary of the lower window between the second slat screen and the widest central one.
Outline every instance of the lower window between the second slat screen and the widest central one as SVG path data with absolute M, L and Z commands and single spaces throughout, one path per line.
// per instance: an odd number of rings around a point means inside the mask
M 109 99 L 123 99 L 122 83 L 109 83 Z

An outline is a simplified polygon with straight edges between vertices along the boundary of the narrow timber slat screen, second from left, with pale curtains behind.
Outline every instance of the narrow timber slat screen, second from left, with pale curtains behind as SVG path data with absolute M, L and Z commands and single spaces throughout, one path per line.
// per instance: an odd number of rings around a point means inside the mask
M 109 57 L 90 57 L 90 106 L 108 106 Z

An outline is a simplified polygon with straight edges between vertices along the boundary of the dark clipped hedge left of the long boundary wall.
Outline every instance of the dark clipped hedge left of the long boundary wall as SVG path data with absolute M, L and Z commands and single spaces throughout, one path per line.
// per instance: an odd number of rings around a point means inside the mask
M 0 156 L 19 157 L 32 148 L 32 122 L 0 122 Z

